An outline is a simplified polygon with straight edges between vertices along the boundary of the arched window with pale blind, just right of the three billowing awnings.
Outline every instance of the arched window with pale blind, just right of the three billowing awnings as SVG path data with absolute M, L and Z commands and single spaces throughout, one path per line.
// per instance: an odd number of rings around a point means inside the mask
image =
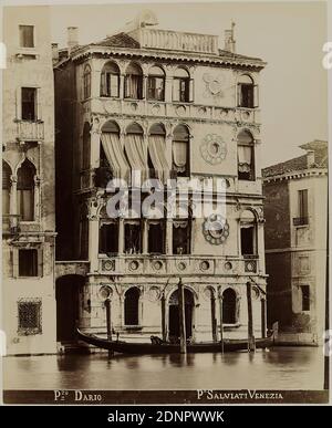
M 173 134 L 173 166 L 178 177 L 189 177 L 189 132 L 185 125 L 178 125 Z

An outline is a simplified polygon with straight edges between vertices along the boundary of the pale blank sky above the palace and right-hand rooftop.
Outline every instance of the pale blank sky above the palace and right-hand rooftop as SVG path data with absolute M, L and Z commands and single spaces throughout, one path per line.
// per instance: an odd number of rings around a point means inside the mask
M 52 42 L 66 44 L 66 27 L 79 27 L 80 44 L 122 29 L 142 9 L 155 12 L 160 29 L 219 35 L 236 22 L 237 52 L 268 63 L 259 88 L 262 167 L 300 156 L 298 147 L 328 139 L 328 41 L 324 2 L 200 2 L 52 6 Z

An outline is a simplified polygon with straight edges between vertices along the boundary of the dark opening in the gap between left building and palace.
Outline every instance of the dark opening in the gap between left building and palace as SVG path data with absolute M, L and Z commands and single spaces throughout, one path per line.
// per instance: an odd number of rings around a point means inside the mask
M 80 293 L 84 276 L 64 275 L 55 282 L 56 342 L 74 342 L 80 319 Z

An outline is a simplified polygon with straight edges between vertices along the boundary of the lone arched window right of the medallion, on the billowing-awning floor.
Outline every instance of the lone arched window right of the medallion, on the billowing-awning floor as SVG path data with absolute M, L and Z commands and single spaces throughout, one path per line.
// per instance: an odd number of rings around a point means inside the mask
M 253 138 L 249 131 L 241 131 L 238 135 L 238 178 L 239 180 L 255 180 Z

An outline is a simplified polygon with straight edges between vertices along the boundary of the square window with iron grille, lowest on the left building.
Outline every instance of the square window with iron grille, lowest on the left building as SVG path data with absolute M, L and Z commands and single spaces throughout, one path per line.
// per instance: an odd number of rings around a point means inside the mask
M 41 334 L 41 299 L 22 299 L 18 302 L 18 333 Z

